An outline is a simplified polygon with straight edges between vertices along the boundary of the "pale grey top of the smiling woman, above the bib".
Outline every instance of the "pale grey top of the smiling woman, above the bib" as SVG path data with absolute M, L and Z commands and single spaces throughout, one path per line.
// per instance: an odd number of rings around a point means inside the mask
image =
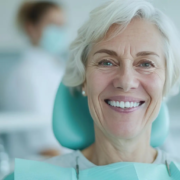
M 161 149 L 157 148 L 158 155 L 153 162 L 153 164 L 165 164 L 165 160 L 170 163 L 171 161 L 180 162 L 180 159 L 170 156 L 168 153 L 162 151 Z M 78 163 L 77 163 L 78 157 Z M 51 159 L 46 160 L 47 163 L 61 166 L 64 168 L 76 168 L 76 165 L 79 165 L 79 170 L 84 170 L 88 168 L 95 167 L 96 165 L 90 162 L 79 150 L 76 150 L 72 153 L 65 154 L 63 156 L 56 156 Z

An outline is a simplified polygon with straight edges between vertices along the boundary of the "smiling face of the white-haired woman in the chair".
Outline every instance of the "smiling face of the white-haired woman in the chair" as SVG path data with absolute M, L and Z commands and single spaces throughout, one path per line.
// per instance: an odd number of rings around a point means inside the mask
M 113 36 L 117 26 L 106 37 Z M 139 18 L 120 35 L 95 44 L 84 90 L 96 126 L 124 139 L 150 129 L 162 101 L 165 64 L 160 32 Z

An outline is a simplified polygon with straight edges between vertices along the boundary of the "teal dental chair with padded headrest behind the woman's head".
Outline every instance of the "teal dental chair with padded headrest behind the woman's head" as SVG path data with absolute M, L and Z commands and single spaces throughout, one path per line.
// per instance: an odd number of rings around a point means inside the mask
M 94 142 L 93 120 L 89 113 L 87 98 L 83 97 L 81 92 L 70 91 L 62 83 L 55 99 L 52 126 L 56 139 L 64 147 L 82 150 Z M 162 145 L 168 130 L 168 109 L 162 103 L 159 115 L 152 125 L 151 146 Z M 13 179 L 12 173 L 4 180 Z

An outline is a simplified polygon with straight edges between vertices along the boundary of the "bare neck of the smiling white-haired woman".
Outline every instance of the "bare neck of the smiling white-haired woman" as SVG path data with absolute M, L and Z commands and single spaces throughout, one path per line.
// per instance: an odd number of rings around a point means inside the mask
M 112 144 L 114 143 L 114 144 Z M 157 150 L 149 145 L 146 138 L 139 141 L 120 140 L 119 143 L 98 138 L 94 144 L 82 151 L 83 155 L 96 165 L 107 165 L 116 162 L 153 163 Z

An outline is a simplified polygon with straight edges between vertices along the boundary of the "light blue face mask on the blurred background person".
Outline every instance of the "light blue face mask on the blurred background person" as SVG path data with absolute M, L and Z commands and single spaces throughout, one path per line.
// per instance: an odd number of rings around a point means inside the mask
M 39 45 L 53 55 L 63 55 L 67 51 L 65 28 L 55 25 L 47 26 L 42 33 Z

